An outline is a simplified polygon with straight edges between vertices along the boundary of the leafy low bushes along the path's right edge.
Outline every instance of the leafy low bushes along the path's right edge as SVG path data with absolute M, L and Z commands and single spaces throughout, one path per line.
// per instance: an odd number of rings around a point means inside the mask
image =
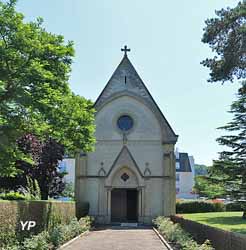
M 189 233 L 184 231 L 181 226 L 174 224 L 169 218 L 157 217 L 153 223 L 159 233 L 169 242 L 175 250 L 213 250 L 209 240 L 202 245 L 194 241 Z

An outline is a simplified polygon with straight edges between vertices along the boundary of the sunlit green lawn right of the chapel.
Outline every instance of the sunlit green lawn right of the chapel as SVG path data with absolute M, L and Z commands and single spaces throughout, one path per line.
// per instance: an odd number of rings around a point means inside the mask
M 182 216 L 212 227 L 246 234 L 246 220 L 242 219 L 242 212 L 197 213 L 182 214 Z

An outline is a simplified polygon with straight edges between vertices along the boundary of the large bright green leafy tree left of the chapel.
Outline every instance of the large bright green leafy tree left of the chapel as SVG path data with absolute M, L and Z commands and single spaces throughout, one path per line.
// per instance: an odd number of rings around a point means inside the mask
M 24 22 L 16 1 L 0 0 L 0 175 L 17 174 L 15 162 L 32 159 L 16 140 L 32 133 L 52 137 L 66 151 L 89 151 L 94 143 L 91 101 L 68 84 L 74 49 L 47 32 L 42 19 Z

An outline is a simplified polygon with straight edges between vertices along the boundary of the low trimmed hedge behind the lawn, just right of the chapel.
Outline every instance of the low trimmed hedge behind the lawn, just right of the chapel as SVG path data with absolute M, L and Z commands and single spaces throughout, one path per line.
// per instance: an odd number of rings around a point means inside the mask
M 176 203 L 177 213 L 204 213 L 223 212 L 225 205 L 222 202 L 212 201 L 179 201 Z

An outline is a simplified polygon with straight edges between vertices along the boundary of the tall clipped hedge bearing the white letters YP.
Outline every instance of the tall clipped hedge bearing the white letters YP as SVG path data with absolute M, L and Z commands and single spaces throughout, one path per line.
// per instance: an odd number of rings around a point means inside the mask
M 75 202 L 0 200 L 0 211 L 1 248 L 1 244 L 6 244 L 11 239 L 22 240 L 57 224 L 69 223 L 75 217 Z M 35 221 L 36 226 L 23 231 L 21 221 Z

